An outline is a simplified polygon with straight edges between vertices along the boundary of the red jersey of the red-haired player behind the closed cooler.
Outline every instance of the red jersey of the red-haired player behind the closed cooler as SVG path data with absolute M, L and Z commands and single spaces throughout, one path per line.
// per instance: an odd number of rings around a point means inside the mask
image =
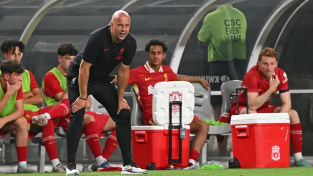
M 277 89 L 270 95 L 272 97 L 278 90 L 279 92 L 289 91 L 288 78 L 286 72 L 276 67 L 275 74 L 280 81 Z M 269 89 L 269 81 L 262 78 L 259 66 L 253 66 L 245 75 L 242 83 L 242 87 L 246 87 L 248 92 L 257 92 L 262 95 Z M 246 106 L 246 93 L 240 92 L 238 96 L 239 105 Z M 234 102 L 236 104 L 236 102 Z M 259 109 L 268 107 L 269 102 L 265 102 Z M 235 105 L 236 106 L 236 105 Z

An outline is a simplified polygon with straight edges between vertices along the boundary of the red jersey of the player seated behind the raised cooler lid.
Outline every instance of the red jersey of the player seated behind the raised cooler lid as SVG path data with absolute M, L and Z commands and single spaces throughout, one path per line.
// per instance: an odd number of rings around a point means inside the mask
M 130 71 L 127 84 L 134 85 L 134 92 L 142 108 L 145 124 L 149 124 L 149 120 L 152 118 L 153 88 L 156 83 L 163 81 L 177 81 L 177 74 L 167 65 L 162 65 L 156 72 L 151 68 L 149 62 L 146 62 L 144 66 L 138 66 Z

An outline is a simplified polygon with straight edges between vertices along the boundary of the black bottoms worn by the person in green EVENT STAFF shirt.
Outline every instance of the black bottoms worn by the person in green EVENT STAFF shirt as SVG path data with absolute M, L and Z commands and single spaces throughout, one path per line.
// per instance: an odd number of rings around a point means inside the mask
M 246 60 L 233 59 L 231 61 L 207 62 L 206 75 L 212 86 L 212 91 L 220 91 L 221 85 L 229 80 L 243 80 L 246 71 Z M 211 96 L 211 104 L 222 105 L 222 96 Z

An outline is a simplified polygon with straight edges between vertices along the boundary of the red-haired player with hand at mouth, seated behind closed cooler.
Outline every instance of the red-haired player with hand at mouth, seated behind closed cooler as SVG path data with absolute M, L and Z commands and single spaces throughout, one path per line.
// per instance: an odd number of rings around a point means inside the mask
M 242 83 L 246 87 L 248 113 L 288 112 L 291 120 L 290 134 L 293 147 L 294 166 L 310 167 L 302 157 L 302 129 L 297 111 L 291 109 L 291 96 L 286 72 L 277 67 L 276 51 L 264 48 L 259 54 L 258 65 L 253 66 L 245 75 Z M 282 102 L 281 107 L 269 105 L 277 91 Z M 238 95 L 239 114 L 246 114 L 246 93 Z M 232 103 L 230 114 L 237 114 L 236 102 Z

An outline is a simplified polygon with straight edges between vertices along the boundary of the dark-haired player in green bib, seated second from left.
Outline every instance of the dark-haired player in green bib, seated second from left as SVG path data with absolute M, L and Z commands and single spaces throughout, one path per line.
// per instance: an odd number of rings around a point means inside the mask
M 24 44 L 21 41 L 4 41 L 1 44 L 1 51 L 4 58 L 7 60 L 14 60 L 21 63 L 22 53 L 24 52 Z M 54 127 L 57 122 L 52 120 L 48 121 L 48 124 L 44 127 L 40 127 L 36 124 L 32 124 L 32 117 L 38 114 L 42 114 L 51 110 L 51 107 L 38 108 L 36 104 L 41 104 L 44 101 L 41 90 L 35 80 L 34 75 L 31 71 L 26 70 L 22 73 L 22 92 L 23 92 L 23 103 L 24 103 L 24 114 L 23 117 L 27 119 L 29 138 L 33 138 L 39 132 L 43 132 L 42 140 L 47 151 L 47 154 L 51 160 L 53 169 L 52 172 L 64 172 L 65 167 L 60 163 L 57 153 L 57 146 L 54 137 Z M 57 111 L 54 116 L 62 117 L 64 113 Z

